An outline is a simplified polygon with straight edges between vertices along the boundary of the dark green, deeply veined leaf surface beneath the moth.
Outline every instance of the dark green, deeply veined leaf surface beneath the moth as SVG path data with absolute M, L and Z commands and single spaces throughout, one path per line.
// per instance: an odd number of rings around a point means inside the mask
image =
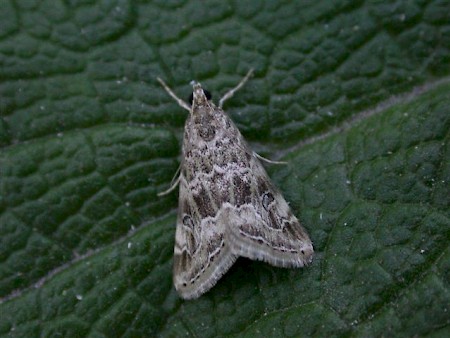
M 448 336 L 450 5 L 17 1 L 0 7 L 0 334 Z M 313 240 L 172 286 L 182 97 L 226 111 Z

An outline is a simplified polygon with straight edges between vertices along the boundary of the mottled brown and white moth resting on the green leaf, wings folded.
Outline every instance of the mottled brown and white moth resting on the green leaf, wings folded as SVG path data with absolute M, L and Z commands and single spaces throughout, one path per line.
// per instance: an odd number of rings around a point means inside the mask
M 313 245 L 287 202 L 252 150 L 222 110 L 252 75 L 228 91 L 216 106 L 200 83 L 191 82 L 188 104 L 158 78 L 189 111 L 179 175 L 164 195 L 179 185 L 173 281 L 184 299 L 210 290 L 240 256 L 278 267 L 312 261 Z

